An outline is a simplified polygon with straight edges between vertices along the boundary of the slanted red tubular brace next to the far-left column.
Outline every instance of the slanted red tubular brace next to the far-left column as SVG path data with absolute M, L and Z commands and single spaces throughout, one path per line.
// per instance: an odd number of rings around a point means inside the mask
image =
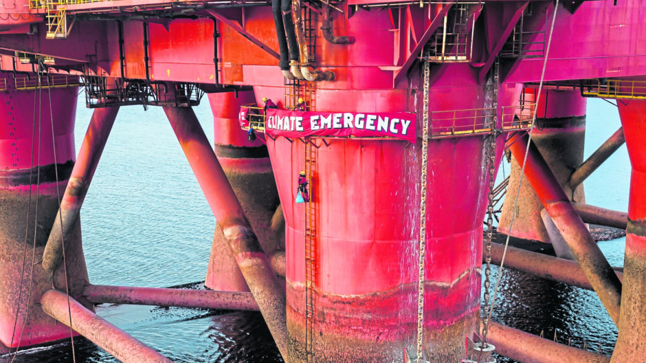
M 54 220 L 52 232 L 49 232 L 49 239 L 47 239 L 47 245 L 45 245 L 43 252 L 43 269 L 48 274 L 52 274 L 58 267 L 60 259 L 63 259 L 63 238 L 69 237 L 76 219 L 78 219 L 78 212 L 85 200 L 87 189 L 92 182 L 96 166 L 99 164 L 101 153 L 108 141 L 118 111 L 119 107 L 94 110 L 85 138 L 78 151 L 76 164 L 71 170 L 65 194 L 60 201 L 60 212 L 56 213 L 56 220 Z

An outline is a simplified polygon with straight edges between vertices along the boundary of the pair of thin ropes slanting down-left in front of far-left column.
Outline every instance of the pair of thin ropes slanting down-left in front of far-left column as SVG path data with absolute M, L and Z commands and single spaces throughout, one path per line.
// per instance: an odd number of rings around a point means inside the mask
M 38 87 L 38 90 L 40 91 L 40 87 Z M 16 318 L 14 319 L 14 329 L 11 333 L 11 340 L 10 344 L 13 344 L 14 342 L 14 337 L 16 335 L 16 327 L 18 326 L 18 316 L 20 315 L 20 303 L 22 300 L 22 295 L 23 295 L 23 281 L 25 280 L 25 262 L 26 262 L 26 257 L 27 257 L 27 236 L 29 234 L 29 217 L 30 217 L 30 212 L 32 208 L 32 171 L 34 170 L 34 149 L 36 145 L 36 100 L 38 100 L 38 96 L 40 95 L 41 92 L 36 92 L 34 90 L 34 118 L 32 121 L 32 158 L 30 161 L 30 169 L 29 169 L 29 197 L 27 199 L 27 220 L 25 223 L 25 250 L 23 250 L 23 263 L 22 263 L 22 268 L 21 268 L 21 273 L 20 273 L 20 285 L 19 285 L 19 292 L 18 292 L 18 306 L 16 307 Z M 18 338 L 18 344 L 16 345 L 16 351 L 14 352 L 14 355 L 11 359 L 11 362 L 13 362 L 16 359 L 16 355 L 18 354 L 18 350 L 20 348 L 20 342 L 23 338 L 23 332 L 25 331 L 25 324 L 27 322 L 27 318 L 29 317 L 29 305 L 30 305 L 30 300 L 32 296 L 32 281 L 34 278 L 34 260 L 36 259 L 36 231 L 37 231 L 37 225 L 38 225 L 38 192 L 39 186 L 40 186 L 40 180 L 41 180 L 41 115 L 38 115 L 38 162 L 36 166 L 36 208 L 34 208 L 34 242 L 32 243 L 32 267 L 31 267 L 31 272 L 30 272 L 30 283 L 29 287 L 27 289 L 27 311 L 25 312 L 25 320 L 23 321 L 23 328 L 21 329 L 20 336 Z M 9 356 L 7 357 L 7 361 L 9 361 Z

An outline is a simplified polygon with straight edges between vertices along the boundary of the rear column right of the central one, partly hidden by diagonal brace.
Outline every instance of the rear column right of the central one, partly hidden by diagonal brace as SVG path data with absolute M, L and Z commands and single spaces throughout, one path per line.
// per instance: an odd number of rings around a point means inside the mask
M 526 100 L 535 99 L 535 89 L 525 89 Z M 532 134 L 532 142 L 550 166 L 561 186 L 568 185 L 572 170 L 583 162 L 583 141 L 586 136 L 586 98 L 574 91 L 543 91 L 537 105 L 537 127 Z M 522 160 L 520 160 L 522 162 Z M 511 225 L 511 215 L 515 202 L 520 166 L 511 157 L 511 175 L 507 195 L 502 205 L 498 232 L 511 234 L 522 239 L 550 242 L 550 237 L 541 219 L 543 205 L 526 180 L 520 188 L 520 197 Z M 585 203 L 583 186 L 576 188 L 574 194 L 568 191 L 570 200 Z M 510 231 L 509 228 L 512 228 Z

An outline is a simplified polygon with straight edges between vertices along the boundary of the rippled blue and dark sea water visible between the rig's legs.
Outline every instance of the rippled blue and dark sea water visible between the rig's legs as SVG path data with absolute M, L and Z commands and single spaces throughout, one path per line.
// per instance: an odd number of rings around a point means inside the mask
M 77 151 L 91 112 L 81 95 Z M 196 113 L 212 140 L 206 100 Z M 619 126 L 616 107 L 589 100 L 586 157 Z M 509 173 L 504 164 L 499 177 Z M 629 177 L 623 146 L 586 180 L 588 203 L 627 210 Z M 161 108 L 120 110 L 81 218 L 91 283 L 199 287 L 205 278 L 215 219 Z M 599 242 L 616 266 L 623 265 L 624 244 Z M 494 281 L 498 272 L 494 267 Z M 594 292 L 505 269 L 496 301 L 494 321 L 549 338 L 556 331 L 559 342 L 612 353 L 617 330 Z M 259 313 L 125 305 L 97 312 L 175 362 L 282 362 Z M 75 347 L 78 363 L 118 362 L 83 338 Z M 14 362 L 72 362 L 71 344 L 25 349 Z

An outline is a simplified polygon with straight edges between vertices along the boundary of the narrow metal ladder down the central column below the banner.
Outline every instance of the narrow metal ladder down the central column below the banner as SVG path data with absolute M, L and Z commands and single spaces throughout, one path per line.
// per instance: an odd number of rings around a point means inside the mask
M 316 286 L 316 211 L 314 175 L 316 173 L 316 151 L 314 141 L 305 139 L 305 176 L 309 181 L 309 202 L 305 203 L 305 352 L 307 362 L 314 362 L 313 330 L 314 330 L 314 288 Z

